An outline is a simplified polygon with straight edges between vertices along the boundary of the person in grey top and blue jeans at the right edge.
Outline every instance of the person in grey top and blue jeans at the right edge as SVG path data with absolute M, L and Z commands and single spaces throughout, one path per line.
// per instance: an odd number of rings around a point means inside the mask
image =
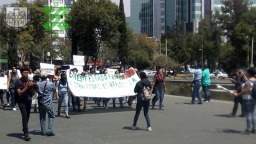
M 247 76 L 242 73 L 242 76 L 245 80 L 245 83 L 242 84 L 242 91 L 241 92 L 234 92 L 233 95 L 235 97 L 242 96 L 243 102 L 242 106 L 244 107 L 245 117 L 247 128 L 243 134 L 249 135 L 250 133 L 255 134 L 256 128 L 256 116 L 255 116 L 255 99 L 254 96 L 256 95 L 256 79 L 255 79 L 255 68 L 249 68 L 247 70 Z

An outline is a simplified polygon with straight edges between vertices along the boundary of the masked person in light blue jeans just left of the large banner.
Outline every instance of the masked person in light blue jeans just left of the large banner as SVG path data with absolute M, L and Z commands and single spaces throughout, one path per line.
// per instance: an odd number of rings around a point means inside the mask
M 60 109 L 62 108 L 62 101 L 64 100 L 65 106 L 65 118 L 69 119 L 70 115 L 68 115 L 68 81 L 66 78 L 66 73 L 60 74 L 60 80 L 57 81 L 56 84 L 56 98 L 58 99 L 58 117 L 60 117 Z

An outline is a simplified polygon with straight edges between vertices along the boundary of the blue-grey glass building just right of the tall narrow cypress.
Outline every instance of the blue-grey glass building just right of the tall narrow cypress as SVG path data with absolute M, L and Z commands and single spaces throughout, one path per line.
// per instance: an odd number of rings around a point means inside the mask
M 119 0 L 111 0 L 119 6 Z M 165 32 L 165 0 L 124 0 L 126 22 L 135 34 L 160 38 Z

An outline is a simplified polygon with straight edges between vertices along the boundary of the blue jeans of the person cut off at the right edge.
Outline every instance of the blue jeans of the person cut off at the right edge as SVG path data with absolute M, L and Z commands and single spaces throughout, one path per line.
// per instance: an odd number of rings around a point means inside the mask
M 242 106 L 244 107 L 244 112 L 246 115 L 246 124 L 247 130 L 255 130 L 256 125 L 256 116 L 254 113 L 255 110 L 255 101 L 253 99 L 243 100 Z

